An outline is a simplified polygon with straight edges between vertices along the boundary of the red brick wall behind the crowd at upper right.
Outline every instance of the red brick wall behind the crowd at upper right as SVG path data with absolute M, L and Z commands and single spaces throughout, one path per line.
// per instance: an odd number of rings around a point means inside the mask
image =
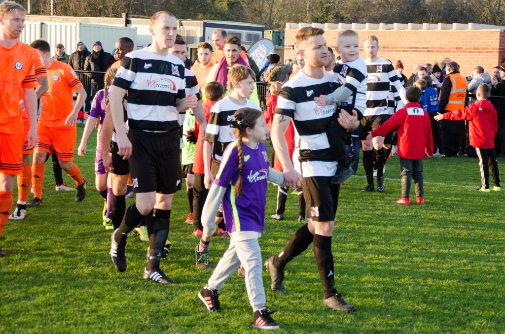
M 325 38 L 328 46 L 334 48 L 340 30 L 328 29 Z M 362 41 L 368 35 L 379 39 L 379 57 L 390 60 L 393 65 L 401 60 L 407 77 L 415 65 L 435 62 L 455 61 L 461 73 L 471 76 L 476 66 L 486 72 L 505 61 L 505 32 L 499 30 L 356 30 Z M 295 29 L 285 30 L 284 58 L 294 59 Z

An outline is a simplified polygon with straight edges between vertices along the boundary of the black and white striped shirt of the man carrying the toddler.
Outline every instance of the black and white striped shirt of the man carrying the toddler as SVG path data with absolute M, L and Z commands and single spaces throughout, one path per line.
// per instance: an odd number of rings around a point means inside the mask
M 333 176 L 337 169 L 326 136 L 326 127 L 336 111 L 335 104 L 322 106 L 314 101 L 315 96 L 333 92 L 333 81 L 333 72 L 324 72 L 323 78 L 315 79 L 298 71 L 282 87 L 277 99 L 275 113 L 292 118 L 299 135 L 298 159 L 304 178 Z

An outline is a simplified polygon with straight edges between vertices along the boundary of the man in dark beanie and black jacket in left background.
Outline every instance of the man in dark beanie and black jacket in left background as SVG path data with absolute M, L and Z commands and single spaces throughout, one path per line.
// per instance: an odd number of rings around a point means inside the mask
M 84 71 L 91 72 L 105 72 L 114 63 L 114 57 L 109 52 L 105 52 L 102 46 L 102 42 L 95 40 L 92 44 L 93 51 L 86 57 L 86 62 L 84 63 Z M 96 92 L 103 88 L 104 86 L 104 74 L 88 74 L 91 79 L 91 92 L 90 99 L 93 100 Z

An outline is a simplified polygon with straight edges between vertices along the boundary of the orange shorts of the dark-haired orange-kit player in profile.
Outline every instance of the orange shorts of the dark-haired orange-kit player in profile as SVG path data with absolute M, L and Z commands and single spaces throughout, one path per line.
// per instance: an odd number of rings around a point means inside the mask
M 74 158 L 77 127 L 56 129 L 46 126 L 43 122 L 38 122 L 37 137 L 38 142 L 35 150 L 49 154 L 56 152 L 56 155 L 63 161 L 70 161 Z

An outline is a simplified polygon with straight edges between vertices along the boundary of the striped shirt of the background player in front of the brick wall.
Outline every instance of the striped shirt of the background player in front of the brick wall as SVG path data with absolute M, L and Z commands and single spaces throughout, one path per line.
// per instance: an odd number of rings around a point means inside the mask
M 393 65 L 389 61 L 378 58 L 375 62 L 367 62 L 368 87 L 367 87 L 367 109 L 365 116 L 387 115 L 388 99 L 391 94 L 389 85 L 396 88 L 398 95 L 394 95 L 397 103 L 396 108 L 403 107 L 405 100 L 405 88 L 401 85 Z

